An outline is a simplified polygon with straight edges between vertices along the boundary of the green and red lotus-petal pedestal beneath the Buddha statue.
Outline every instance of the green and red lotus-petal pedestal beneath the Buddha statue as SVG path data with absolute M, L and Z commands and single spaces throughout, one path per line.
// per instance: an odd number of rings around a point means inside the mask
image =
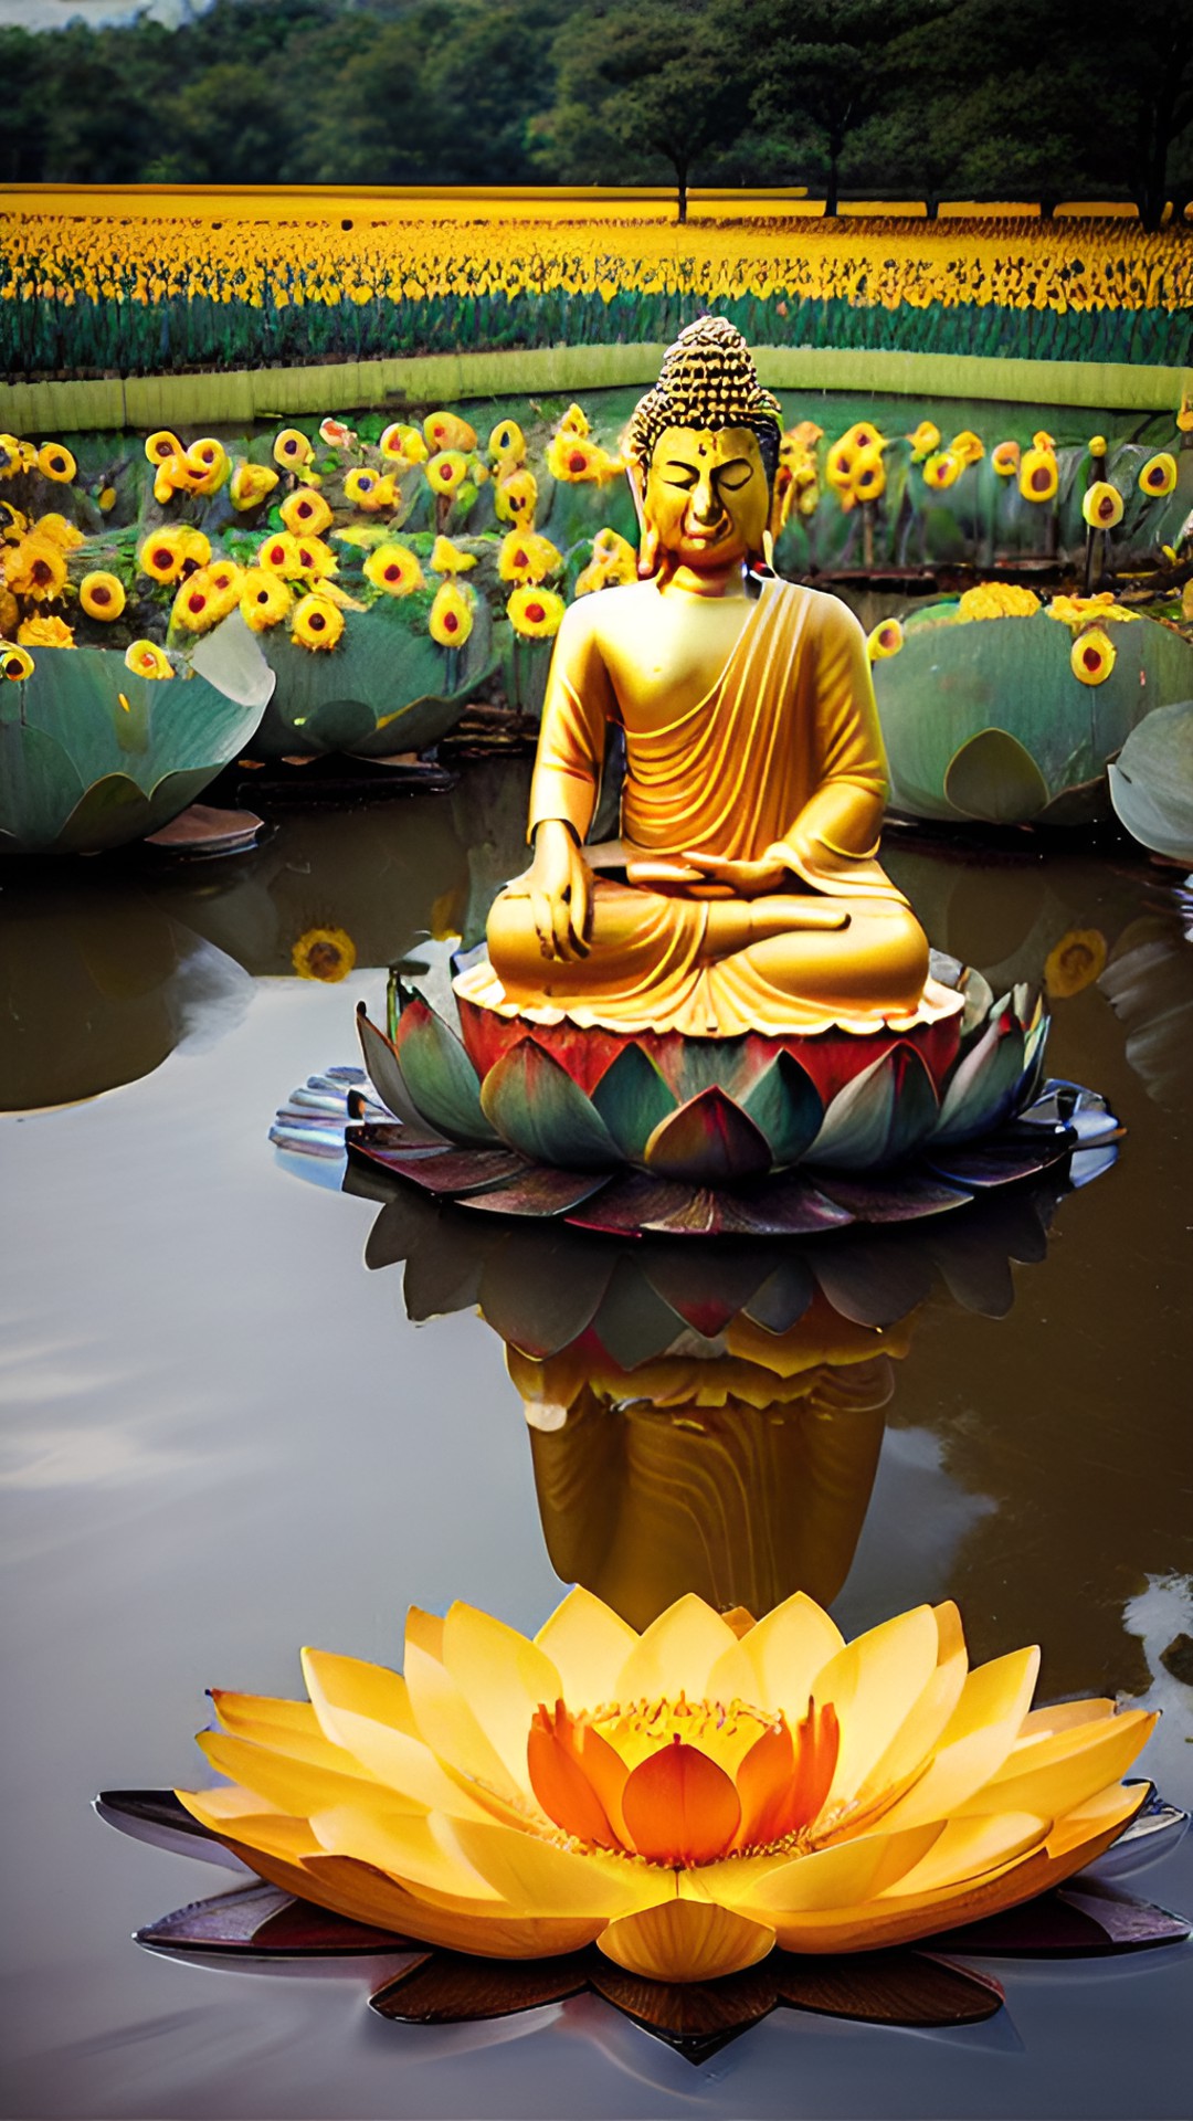
M 1047 1016 L 1025 986 L 934 959 L 953 1018 L 851 1037 L 633 1037 L 503 1020 L 459 1031 L 397 984 L 386 1037 L 359 1010 L 365 1067 L 397 1128 L 350 1147 L 427 1192 L 594 1230 L 766 1237 L 962 1207 L 1072 1143 L 1030 1114 Z M 811 1173 L 811 1175 L 809 1175 Z

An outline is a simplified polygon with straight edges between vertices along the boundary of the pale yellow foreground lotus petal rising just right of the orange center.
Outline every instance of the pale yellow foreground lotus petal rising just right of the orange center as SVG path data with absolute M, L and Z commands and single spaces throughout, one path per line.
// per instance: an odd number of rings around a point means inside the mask
M 932 1673 L 940 1633 L 932 1606 L 913 1606 L 845 1644 L 815 1676 L 815 1699 L 832 1701 L 841 1750 L 828 1803 L 851 1799 L 902 1729 Z

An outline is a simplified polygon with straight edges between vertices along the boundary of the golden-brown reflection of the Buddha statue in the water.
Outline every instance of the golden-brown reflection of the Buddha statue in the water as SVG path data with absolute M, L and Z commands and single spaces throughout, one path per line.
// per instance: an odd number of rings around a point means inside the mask
M 630 1627 L 686 1591 L 768 1612 L 792 1591 L 828 1603 L 862 1531 L 892 1357 L 887 1332 L 824 1296 L 783 1334 L 749 1317 L 622 1370 L 592 1336 L 535 1362 L 507 1349 L 531 1425 L 552 1567 Z

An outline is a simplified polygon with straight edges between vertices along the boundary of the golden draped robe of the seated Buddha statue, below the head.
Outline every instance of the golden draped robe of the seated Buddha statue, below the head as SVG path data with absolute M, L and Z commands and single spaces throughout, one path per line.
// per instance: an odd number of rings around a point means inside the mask
M 652 583 L 601 598 L 658 594 Z M 959 1007 L 926 978 L 928 948 L 875 853 L 887 791 L 866 641 L 832 596 L 768 579 L 713 687 L 671 721 L 616 691 L 588 626 L 556 643 L 531 787 L 529 836 L 563 819 L 584 842 L 601 785 L 607 721 L 626 740 L 622 836 L 584 855 L 592 884 L 586 959 L 548 959 L 526 878 L 497 899 L 488 961 L 456 980 L 463 999 L 539 1024 L 609 1031 L 909 1031 Z M 834 931 L 792 923 L 717 957 L 709 897 L 635 882 L 635 863 L 686 853 L 775 861 L 788 906 L 828 906 Z M 620 874 L 601 874 L 620 872 Z M 754 899 L 756 910 L 766 904 Z

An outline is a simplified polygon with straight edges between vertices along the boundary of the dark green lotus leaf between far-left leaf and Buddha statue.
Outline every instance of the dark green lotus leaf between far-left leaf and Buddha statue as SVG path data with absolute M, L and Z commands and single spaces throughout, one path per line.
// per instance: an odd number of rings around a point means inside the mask
M 492 621 L 482 596 L 463 649 L 442 649 L 427 632 L 427 598 L 384 598 L 348 611 L 338 647 L 304 649 L 282 626 L 263 636 L 278 672 L 255 751 L 355 751 L 388 757 L 427 751 L 461 719 L 490 664 Z

